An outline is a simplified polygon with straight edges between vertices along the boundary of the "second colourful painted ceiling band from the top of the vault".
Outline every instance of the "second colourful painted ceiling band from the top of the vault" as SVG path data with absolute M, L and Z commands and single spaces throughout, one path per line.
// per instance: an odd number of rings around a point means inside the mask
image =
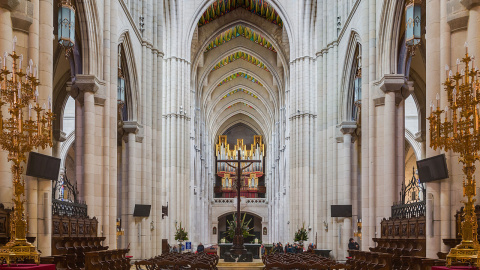
M 220 45 L 225 44 L 226 42 L 236 38 L 236 37 L 244 37 L 246 39 L 249 39 L 260 46 L 263 46 L 267 49 L 269 49 L 272 52 L 277 52 L 275 48 L 273 47 L 272 43 L 268 41 L 264 36 L 260 35 L 257 33 L 255 30 L 253 30 L 250 27 L 244 26 L 244 25 L 237 25 L 234 26 L 225 32 L 221 33 L 218 35 L 215 40 L 210 42 L 205 49 L 205 52 L 208 52 L 212 49 L 217 48 Z

